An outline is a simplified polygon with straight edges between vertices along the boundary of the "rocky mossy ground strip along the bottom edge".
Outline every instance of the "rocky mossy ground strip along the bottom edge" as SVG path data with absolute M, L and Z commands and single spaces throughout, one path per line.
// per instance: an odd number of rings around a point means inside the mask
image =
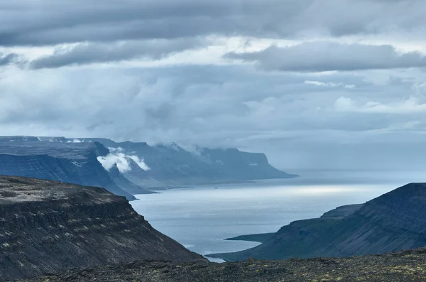
M 93 269 L 75 269 L 26 280 L 143 282 L 321 282 L 426 281 L 426 249 L 344 259 L 248 260 L 226 264 L 134 262 Z

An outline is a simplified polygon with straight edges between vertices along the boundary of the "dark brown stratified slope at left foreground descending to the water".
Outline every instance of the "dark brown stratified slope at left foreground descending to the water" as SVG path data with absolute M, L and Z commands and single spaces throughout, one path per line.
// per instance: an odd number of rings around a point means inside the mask
M 102 188 L 0 176 L 0 281 L 138 259 L 202 256 Z

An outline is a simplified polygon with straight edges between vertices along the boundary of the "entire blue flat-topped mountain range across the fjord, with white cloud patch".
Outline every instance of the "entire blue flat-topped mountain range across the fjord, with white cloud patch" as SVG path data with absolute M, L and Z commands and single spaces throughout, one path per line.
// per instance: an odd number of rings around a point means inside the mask
M 273 168 L 263 153 L 236 148 L 43 136 L 0 136 L 0 174 L 104 187 L 129 200 L 185 185 L 297 176 Z

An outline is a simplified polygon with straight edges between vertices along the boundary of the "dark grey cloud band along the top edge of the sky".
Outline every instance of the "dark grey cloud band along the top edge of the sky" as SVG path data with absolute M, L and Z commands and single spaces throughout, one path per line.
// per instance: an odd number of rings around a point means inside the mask
M 0 4 L 0 45 L 422 32 L 425 9 L 419 0 L 18 0 Z

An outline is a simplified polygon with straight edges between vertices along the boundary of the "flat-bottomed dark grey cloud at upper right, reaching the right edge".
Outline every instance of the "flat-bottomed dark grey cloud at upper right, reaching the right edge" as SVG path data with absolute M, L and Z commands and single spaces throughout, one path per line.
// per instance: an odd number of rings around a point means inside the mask
M 253 53 L 228 53 L 226 58 L 255 62 L 265 70 L 323 72 L 426 67 L 426 55 L 400 53 L 392 45 L 329 42 L 275 45 Z

